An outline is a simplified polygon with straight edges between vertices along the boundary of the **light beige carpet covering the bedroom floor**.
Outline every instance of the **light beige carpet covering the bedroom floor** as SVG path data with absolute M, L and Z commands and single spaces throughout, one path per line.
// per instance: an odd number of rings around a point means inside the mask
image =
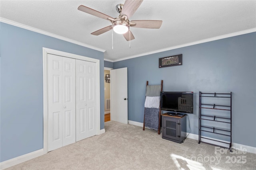
M 179 144 L 154 130 L 114 121 L 106 122 L 105 130 L 8 170 L 256 170 L 256 154 L 214 153 L 213 145 L 193 139 Z

